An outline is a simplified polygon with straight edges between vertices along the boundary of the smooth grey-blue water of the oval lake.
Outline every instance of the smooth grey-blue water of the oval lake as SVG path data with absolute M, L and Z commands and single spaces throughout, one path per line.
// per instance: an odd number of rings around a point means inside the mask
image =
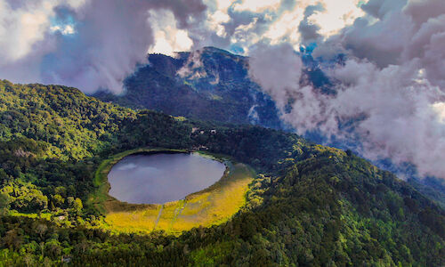
M 109 195 L 134 204 L 161 204 L 204 190 L 223 177 L 223 163 L 198 153 L 139 154 L 109 172 Z

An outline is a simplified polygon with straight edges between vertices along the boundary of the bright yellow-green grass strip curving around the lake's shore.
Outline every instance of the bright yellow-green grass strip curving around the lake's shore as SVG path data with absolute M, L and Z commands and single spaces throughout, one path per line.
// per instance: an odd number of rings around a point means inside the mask
M 110 165 L 116 163 L 117 158 L 121 157 L 114 157 L 114 160 L 109 160 L 106 166 L 101 166 L 98 171 L 102 177 L 98 177 L 98 180 L 100 178 L 103 180 L 103 176 L 106 177 Z M 253 181 L 255 173 L 243 164 L 232 164 L 229 160 L 224 163 L 227 168 L 220 181 L 206 190 L 164 205 L 127 204 L 109 197 L 108 194 L 105 199 L 103 194 L 105 188 L 103 184 L 98 184 L 101 192 L 93 197 L 100 200 L 98 207 L 103 208 L 106 214 L 106 225 L 102 227 L 115 232 L 156 230 L 179 234 L 200 225 L 208 227 L 226 222 L 245 205 L 248 186 Z M 106 190 L 108 191 L 108 188 Z

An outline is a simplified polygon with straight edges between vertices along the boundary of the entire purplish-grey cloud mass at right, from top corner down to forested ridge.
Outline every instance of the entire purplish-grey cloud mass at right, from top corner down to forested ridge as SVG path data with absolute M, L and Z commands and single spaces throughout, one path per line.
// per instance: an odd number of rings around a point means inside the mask
M 371 0 L 363 5 L 365 16 L 320 42 L 314 57 L 346 54 L 341 64 L 320 65 L 336 93 L 321 93 L 305 82 L 302 70 L 292 76 L 287 69 L 301 60 L 279 47 L 253 53 L 251 62 L 268 61 L 251 63 L 249 74 L 280 103 L 283 119 L 299 134 L 320 131 L 327 143 L 354 141 L 366 158 L 409 162 L 421 176 L 445 178 L 445 23 L 439 2 Z M 267 69 L 282 70 L 269 77 L 279 82 L 262 78 Z

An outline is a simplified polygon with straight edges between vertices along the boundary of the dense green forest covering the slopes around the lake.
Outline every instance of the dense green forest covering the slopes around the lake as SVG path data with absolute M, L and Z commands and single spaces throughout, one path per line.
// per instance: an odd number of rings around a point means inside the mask
M 58 85 L 0 81 L 0 121 L 0 266 L 445 264 L 445 211 L 349 150 L 134 111 Z M 179 237 L 102 230 L 88 201 L 93 173 L 141 147 L 205 148 L 253 166 L 247 205 Z

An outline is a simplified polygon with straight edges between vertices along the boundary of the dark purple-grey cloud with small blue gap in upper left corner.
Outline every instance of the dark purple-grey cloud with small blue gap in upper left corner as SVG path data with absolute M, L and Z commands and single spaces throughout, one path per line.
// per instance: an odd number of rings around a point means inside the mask
M 0 0 L 0 76 L 120 93 L 125 77 L 156 47 L 154 36 L 162 42 L 163 21 L 153 23 L 158 13 L 175 24 L 164 35 L 173 50 L 190 48 L 183 29 L 205 9 L 198 0 Z

